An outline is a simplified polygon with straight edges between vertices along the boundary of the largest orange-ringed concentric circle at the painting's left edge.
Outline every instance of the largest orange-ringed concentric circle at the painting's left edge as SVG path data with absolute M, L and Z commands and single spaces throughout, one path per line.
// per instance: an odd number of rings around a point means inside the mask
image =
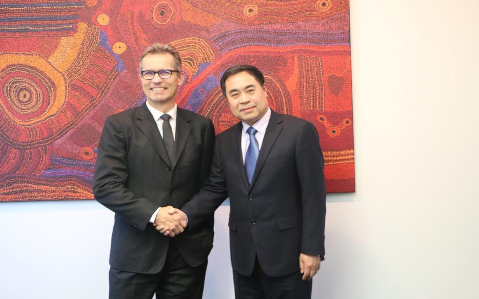
M 66 81 L 37 54 L 0 54 L 0 108 L 16 125 L 39 123 L 53 115 L 66 99 Z

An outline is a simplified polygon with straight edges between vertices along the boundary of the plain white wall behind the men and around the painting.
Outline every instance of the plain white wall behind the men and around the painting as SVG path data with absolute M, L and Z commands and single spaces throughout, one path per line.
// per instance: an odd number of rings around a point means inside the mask
M 351 0 L 356 193 L 327 203 L 313 298 L 479 298 L 479 1 Z M 233 298 L 228 206 L 205 298 Z M 1 298 L 106 298 L 112 213 L 0 203 Z

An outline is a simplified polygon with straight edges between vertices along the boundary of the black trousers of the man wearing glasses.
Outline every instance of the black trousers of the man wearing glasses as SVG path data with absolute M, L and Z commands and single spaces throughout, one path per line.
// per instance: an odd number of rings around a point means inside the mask
M 110 268 L 110 299 L 201 299 L 206 266 L 191 267 L 170 242 L 163 269 L 156 274 Z

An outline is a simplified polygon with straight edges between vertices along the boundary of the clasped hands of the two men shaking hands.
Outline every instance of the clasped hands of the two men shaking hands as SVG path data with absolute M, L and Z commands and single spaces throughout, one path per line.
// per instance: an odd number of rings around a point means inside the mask
M 156 215 L 155 222 L 153 222 L 157 231 L 170 237 L 182 233 L 186 225 L 186 214 L 172 206 L 162 207 Z

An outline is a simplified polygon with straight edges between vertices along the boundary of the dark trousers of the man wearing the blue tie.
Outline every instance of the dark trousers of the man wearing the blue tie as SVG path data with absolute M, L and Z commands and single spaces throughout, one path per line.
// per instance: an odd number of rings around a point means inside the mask
M 299 258 L 298 258 L 299 263 Z M 236 299 L 311 299 L 312 280 L 303 281 L 302 274 L 294 272 L 281 277 L 269 277 L 261 269 L 258 259 L 253 273 L 244 276 L 233 270 Z

